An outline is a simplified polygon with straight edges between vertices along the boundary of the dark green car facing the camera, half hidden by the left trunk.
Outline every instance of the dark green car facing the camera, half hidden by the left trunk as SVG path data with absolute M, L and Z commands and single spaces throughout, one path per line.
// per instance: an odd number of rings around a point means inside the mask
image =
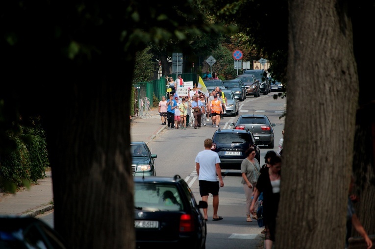
M 132 156 L 131 170 L 133 176 L 153 176 L 156 175 L 155 158 L 145 142 L 130 142 Z

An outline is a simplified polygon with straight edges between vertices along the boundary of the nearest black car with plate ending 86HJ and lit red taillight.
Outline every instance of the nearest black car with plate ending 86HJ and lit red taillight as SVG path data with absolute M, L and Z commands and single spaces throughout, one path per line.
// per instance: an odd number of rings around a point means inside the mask
M 207 227 L 191 189 L 179 175 L 134 179 L 136 248 L 204 249 Z

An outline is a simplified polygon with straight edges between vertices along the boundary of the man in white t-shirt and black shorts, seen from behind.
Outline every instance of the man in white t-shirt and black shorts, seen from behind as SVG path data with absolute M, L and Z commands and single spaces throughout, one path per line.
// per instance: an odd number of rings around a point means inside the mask
M 218 216 L 219 208 L 219 189 L 224 187 L 222 177 L 222 170 L 220 168 L 220 158 L 218 153 L 211 150 L 212 140 L 206 138 L 204 140 L 204 150 L 200 151 L 195 158 L 197 174 L 199 180 L 199 192 L 203 201 L 208 200 L 208 195 L 213 196 L 212 206 L 213 216 L 212 221 L 223 220 L 223 217 Z M 219 177 L 219 181 L 218 181 Z M 219 187 L 220 186 L 220 187 Z M 203 208 L 204 219 L 208 220 L 207 208 Z

